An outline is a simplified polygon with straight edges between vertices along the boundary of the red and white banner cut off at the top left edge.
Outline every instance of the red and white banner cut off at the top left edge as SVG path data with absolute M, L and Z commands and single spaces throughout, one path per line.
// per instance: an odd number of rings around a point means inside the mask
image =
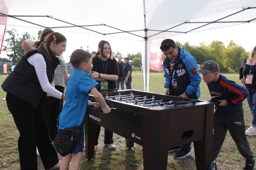
M 8 14 L 6 4 L 3 0 L 0 0 L 0 11 L 1 13 Z M 5 29 L 6 29 L 6 22 L 7 22 L 7 16 L 3 16 L 0 19 L 0 54 L 2 50 L 2 42 L 4 40 L 5 36 Z

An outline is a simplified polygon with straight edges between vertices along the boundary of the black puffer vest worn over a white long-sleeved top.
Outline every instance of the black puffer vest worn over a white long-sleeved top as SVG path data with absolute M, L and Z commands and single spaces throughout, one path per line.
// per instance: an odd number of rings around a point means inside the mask
M 48 46 L 47 48 L 53 62 L 50 62 L 48 54 L 43 49 L 33 49 L 21 58 L 14 68 L 14 71 L 9 74 L 1 85 L 5 92 L 14 95 L 34 108 L 37 107 L 45 92 L 43 92 L 43 89 L 41 88 L 34 66 L 27 61 L 27 58 L 35 53 L 42 54 L 46 61 L 48 81 L 51 82 L 53 80 L 54 70 L 57 65 L 59 65 L 59 59 L 53 54 L 53 51 L 51 51 Z

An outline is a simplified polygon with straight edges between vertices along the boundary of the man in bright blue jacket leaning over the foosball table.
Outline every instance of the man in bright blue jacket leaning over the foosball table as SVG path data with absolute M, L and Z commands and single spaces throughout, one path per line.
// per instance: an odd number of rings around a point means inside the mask
M 163 61 L 165 71 L 165 94 L 198 99 L 200 97 L 201 76 L 196 71 L 197 60 L 187 51 L 178 47 L 174 40 L 165 39 L 162 41 L 160 49 L 165 58 Z M 174 158 L 181 159 L 189 156 L 191 143 L 170 148 L 169 152 L 178 150 Z

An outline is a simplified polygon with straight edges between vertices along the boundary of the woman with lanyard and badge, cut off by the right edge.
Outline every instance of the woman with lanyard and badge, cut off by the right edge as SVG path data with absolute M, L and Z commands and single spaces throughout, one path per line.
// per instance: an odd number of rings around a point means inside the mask
M 256 125 L 256 46 L 249 53 L 239 69 L 239 79 L 249 91 L 247 102 L 251 110 L 251 127 L 245 131 L 246 135 L 255 135 Z

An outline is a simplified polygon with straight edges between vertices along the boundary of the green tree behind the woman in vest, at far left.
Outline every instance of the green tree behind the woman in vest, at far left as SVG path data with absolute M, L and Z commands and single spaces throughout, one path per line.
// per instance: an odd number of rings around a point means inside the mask
M 18 62 L 21 57 L 25 54 L 25 51 L 22 48 L 22 42 L 27 39 L 34 39 L 34 37 L 30 36 L 27 32 L 24 32 L 22 37 L 18 37 L 18 33 L 16 29 L 6 30 L 6 36 L 9 36 L 5 39 L 7 45 L 3 45 L 3 51 L 7 52 L 7 56 L 9 59 L 13 60 L 14 63 Z

